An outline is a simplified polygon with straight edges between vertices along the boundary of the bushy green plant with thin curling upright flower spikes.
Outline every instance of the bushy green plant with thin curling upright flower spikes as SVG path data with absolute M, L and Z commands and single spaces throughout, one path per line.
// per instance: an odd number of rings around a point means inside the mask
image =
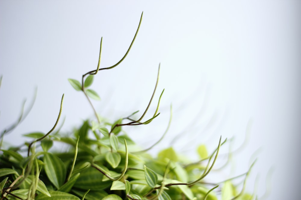
M 100 68 L 102 38 L 99 61 L 96 70 L 82 75 L 81 83 L 76 79 L 68 79 L 77 91 L 82 91 L 90 103 L 97 123 L 86 120 L 74 131 L 73 136 L 64 135 L 57 130 L 52 133 L 61 117 L 64 95 L 61 99 L 59 115 L 54 127 L 48 133 L 29 133 L 24 136 L 33 138 L 22 147 L 2 149 L 0 155 L 0 199 L 254 199 L 254 195 L 241 192 L 231 183 L 232 179 L 220 184 L 203 182 L 203 179 L 213 169 L 219 150 L 227 140 L 219 139 L 217 148 L 208 155 L 206 147 L 200 145 L 198 153 L 200 160 L 187 163 L 173 148 L 160 151 L 157 157 L 152 157 L 148 150 L 157 145 L 169 129 L 172 118 L 170 109 L 169 124 L 158 142 L 151 147 L 138 151 L 138 145 L 128 134 L 122 131 L 124 126 L 145 125 L 151 123 L 160 113 L 159 104 L 164 90 L 157 103 L 157 108 L 151 118 L 143 120 L 157 88 L 157 82 L 151 99 L 138 119 L 138 111 L 120 118 L 113 123 L 103 120 L 97 114 L 90 98 L 100 100 L 96 91 L 88 89 L 94 76 L 101 70 L 108 70 L 119 65 L 129 53 L 138 29 L 123 58 L 111 67 Z M 23 113 L 23 112 L 22 112 Z M 6 133 L 13 130 L 27 115 L 21 114 L 18 121 L 1 133 L 1 144 Z M 91 135 L 93 137 L 91 137 Z M 66 152 L 50 151 L 53 142 L 63 142 L 70 146 Z M 26 147 L 26 155 L 23 154 Z M 41 147 L 41 148 L 40 148 Z M 253 166 L 253 164 L 252 164 Z M 252 167 L 251 166 L 251 167 Z M 250 169 L 251 169 L 250 167 Z M 241 175 L 247 178 L 247 173 Z M 220 186 L 219 186 L 220 185 Z M 218 192 L 214 192 L 214 190 Z

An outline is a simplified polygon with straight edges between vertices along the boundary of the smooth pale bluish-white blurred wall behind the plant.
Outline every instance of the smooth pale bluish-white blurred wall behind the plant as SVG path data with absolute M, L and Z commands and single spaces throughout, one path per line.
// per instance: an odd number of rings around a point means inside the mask
M 165 88 L 161 114 L 149 125 L 125 127 L 129 136 L 141 146 L 156 142 L 166 129 L 172 103 L 170 130 L 154 155 L 173 146 L 193 161 L 198 145 L 206 144 L 211 152 L 220 136 L 234 138 L 231 148 L 240 151 L 233 155 L 231 170 L 211 177 L 213 181 L 246 172 L 257 157 L 247 191 L 256 185 L 259 199 L 298 199 L 301 1 L 2 0 L 1 131 L 17 121 L 23 100 L 29 107 L 38 88 L 33 109 L 5 136 L 5 144 L 22 144 L 28 140 L 24 133 L 47 133 L 63 93 L 62 131 L 95 119 L 84 95 L 67 79 L 81 80 L 82 74 L 96 69 L 101 37 L 101 67 L 118 62 L 142 11 L 141 28 L 127 58 L 95 77 L 91 88 L 101 97 L 92 101 L 97 112 L 112 121 L 136 110 L 142 113 L 161 63 L 146 118 Z

